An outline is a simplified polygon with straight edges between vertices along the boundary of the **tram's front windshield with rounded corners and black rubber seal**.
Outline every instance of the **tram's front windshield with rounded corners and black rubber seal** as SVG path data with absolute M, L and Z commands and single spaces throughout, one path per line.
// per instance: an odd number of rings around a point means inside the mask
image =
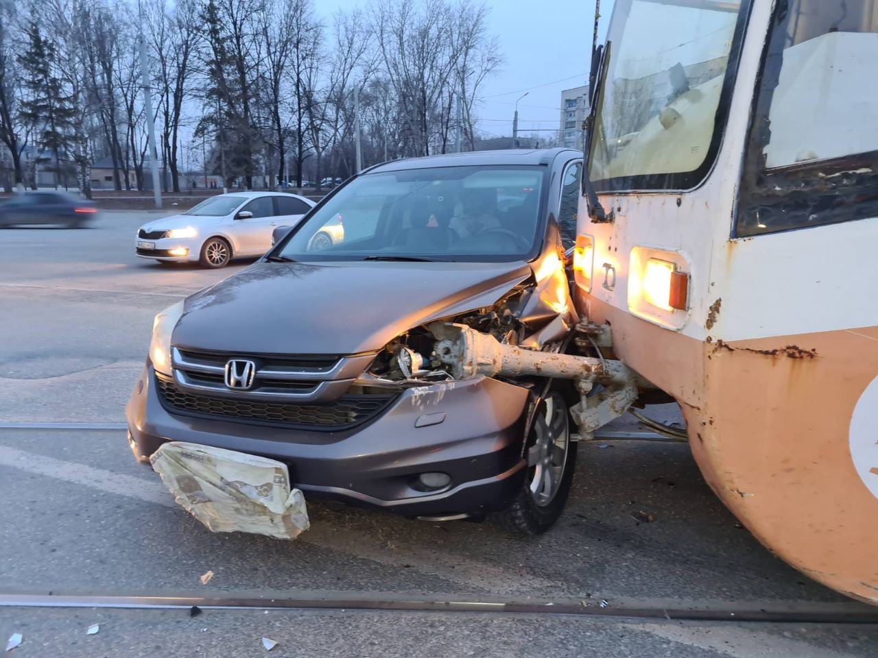
M 596 190 L 683 190 L 722 133 L 748 2 L 620 0 L 589 173 Z

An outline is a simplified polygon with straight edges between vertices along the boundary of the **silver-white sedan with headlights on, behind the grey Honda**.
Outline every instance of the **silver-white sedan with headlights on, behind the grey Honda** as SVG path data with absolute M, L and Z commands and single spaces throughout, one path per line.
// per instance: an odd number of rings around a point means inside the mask
M 284 192 L 220 194 L 182 215 L 140 226 L 137 255 L 224 268 L 233 258 L 263 255 L 277 226 L 297 225 L 314 205 L 306 197 Z

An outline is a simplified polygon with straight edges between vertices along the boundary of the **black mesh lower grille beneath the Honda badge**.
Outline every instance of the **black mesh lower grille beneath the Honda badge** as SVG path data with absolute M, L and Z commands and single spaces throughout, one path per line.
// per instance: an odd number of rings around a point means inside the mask
M 392 403 L 393 395 L 342 396 L 331 404 L 273 404 L 193 395 L 160 375 L 155 376 L 162 404 L 176 413 L 230 418 L 257 425 L 279 425 L 339 431 L 375 418 Z

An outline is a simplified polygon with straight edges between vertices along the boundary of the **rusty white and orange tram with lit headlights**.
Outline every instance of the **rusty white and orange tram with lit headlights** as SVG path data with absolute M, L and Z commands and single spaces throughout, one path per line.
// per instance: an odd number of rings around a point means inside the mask
M 766 547 L 878 603 L 878 0 L 616 0 L 596 59 L 579 311 Z

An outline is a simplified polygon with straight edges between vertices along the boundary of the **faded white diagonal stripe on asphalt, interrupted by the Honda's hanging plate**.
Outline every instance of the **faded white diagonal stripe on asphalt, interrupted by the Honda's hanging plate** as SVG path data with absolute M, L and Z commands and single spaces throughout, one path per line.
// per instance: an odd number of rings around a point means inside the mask
M 174 502 L 157 476 L 155 482 L 150 482 L 139 477 L 113 473 L 104 468 L 62 461 L 7 446 L 0 446 L 0 465 L 53 477 L 68 483 L 81 484 L 117 496 L 182 509 Z M 423 546 L 417 542 L 403 543 L 394 539 L 394 546 L 390 547 L 388 542 L 378 535 L 363 533 L 349 527 L 339 528 L 326 523 L 311 526 L 311 529 L 297 541 L 375 561 L 389 567 L 402 569 L 404 565 L 411 565 L 422 574 L 438 576 L 464 585 L 464 592 L 478 593 L 478 590 L 485 590 L 493 593 L 506 591 L 521 593 L 540 589 L 558 590 L 563 587 L 563 583 L 527 576 L 515 569 L 503 569 L 473 560 L 465 554 L 443 555 L 442 551 L 435 547 Z

